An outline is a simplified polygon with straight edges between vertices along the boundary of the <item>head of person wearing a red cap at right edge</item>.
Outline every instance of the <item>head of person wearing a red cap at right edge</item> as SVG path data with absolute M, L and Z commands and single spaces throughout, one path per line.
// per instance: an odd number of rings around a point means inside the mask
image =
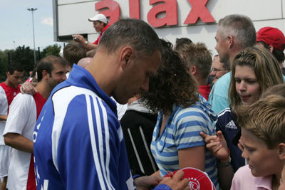
M 269 49 L 274 57 L 278 60 L 283 75 L 285 75 L 285 68 L 283 62 L 285 60 L 285 36 L 278 29 L 273 27 L 264 27 L 257 32 L 257 46 L 263 46 Z

